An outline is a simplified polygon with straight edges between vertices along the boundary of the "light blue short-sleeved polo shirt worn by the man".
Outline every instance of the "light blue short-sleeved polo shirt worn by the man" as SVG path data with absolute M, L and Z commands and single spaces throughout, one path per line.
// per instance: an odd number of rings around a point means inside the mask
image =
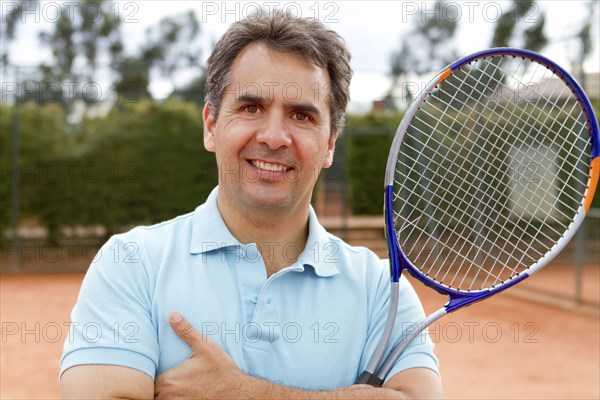
M 116 235 L 101 248 L 71 315 L 61 374 L 112 364 L 155 378 L 175 367 L 190 355 L 168 323 L 177 310 L 250 375 L 311 390 L 354 383 L 387 317 L 387 262 L 327 233 L 311 209 L 304 249 L 271 244 L 290 259 L 301 253 L 298 260 L 267 279 L 256 245 L 240 244 L 223 222 L 217 190 L 194 212 Z M 394 342 L 422 317 L 403 278 Z M 426 335 L 388 378 L 414 367 L 438 371 Z

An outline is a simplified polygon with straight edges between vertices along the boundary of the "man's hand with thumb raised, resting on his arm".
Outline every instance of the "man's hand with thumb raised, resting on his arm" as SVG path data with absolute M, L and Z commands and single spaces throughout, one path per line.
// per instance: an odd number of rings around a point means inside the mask
M 190 357 L 156 378 L 154 398 L 236 398 L 244 382 L 244 374 L 233 359 L 178 312 L 169 314 L 173 331 L 192 348 Z

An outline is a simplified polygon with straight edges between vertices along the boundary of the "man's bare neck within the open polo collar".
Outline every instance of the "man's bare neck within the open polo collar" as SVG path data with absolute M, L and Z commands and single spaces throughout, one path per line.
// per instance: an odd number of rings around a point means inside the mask
M 246 210 L 219 196 L 217 204 L 225 225 L 241 243 L 256 243 L 267 276 L 292 265 L 308 240 L 308 204 L 303 210 Z

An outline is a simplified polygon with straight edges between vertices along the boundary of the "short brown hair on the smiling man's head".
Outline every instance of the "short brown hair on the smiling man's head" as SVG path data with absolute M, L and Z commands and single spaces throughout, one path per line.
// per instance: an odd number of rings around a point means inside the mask
M 268 48 L 284 53 L 294 53 L 327 69 L 331 79 L 329 92 L 331 130 L 344 125 L 344 112 L 350 99 L 350 52 L 336 32 L 312 18 L 294 17 L 275 10 L 271 14 L 259 11 L 234 23 L 217 42 L 208 58 L 206 101 L 213 105 L 214 115 L 219 113 L 223 92 L 231 78 L 233 60 L 250 43 L 261 42 Z

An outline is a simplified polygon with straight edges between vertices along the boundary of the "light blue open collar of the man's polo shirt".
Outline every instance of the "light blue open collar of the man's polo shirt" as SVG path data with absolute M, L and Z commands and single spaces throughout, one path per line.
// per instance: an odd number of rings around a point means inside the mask
M 218 187 L 213 189 L 206 202 L 196 208 L 193 216 L 190 253 L 201 254 L 226 247 L 240 246 L 240 242 L 231 234 L 221 217 L 217 206 Z M 331 236 L 319 223 L 312 207 L 308 214 L 308 240 L 295 266 L 310 266 L 320 277 L 339 273 L 336 254 L 339 254 L 339 241 Z

